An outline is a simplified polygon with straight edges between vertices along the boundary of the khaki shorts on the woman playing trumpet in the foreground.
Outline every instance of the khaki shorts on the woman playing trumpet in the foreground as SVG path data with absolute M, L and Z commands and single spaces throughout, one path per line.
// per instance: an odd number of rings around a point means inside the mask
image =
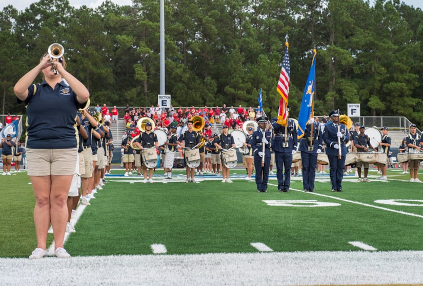
M 75 174 L 78 149 L 27 148 L 29 176 L 68 176 Z

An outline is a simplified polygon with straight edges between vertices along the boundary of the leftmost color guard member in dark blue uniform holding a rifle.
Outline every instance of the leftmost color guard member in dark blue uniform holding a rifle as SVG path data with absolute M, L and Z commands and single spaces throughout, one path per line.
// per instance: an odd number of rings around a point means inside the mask
M 267 117 L 257 117 L 258 122 L 257 131 L 253 132 L 250 140 L 251 148 L 254 154 L 255 166 L 255 183 L 259 193 L 267 192 L 267 182 L 269 181 L 269 167 L 270 167 L 270 148 L 273 143 L 273 135 L 270 131 L 266 131 Z M 263 136 L 264 134 L 264 136 Z M 263 148 L 263 144 L 264 147 Z M 263 149 L 265 153 L 263 154 Z M 264 156 L 264 166 L 261 166 Z

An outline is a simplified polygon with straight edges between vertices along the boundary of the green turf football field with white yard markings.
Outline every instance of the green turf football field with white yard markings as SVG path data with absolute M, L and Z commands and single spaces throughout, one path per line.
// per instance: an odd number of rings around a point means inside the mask
M 112 173 L 91 206 L 78 209 L 65 244 L 72 256 L 423 249 L 423 184 L 399 169 L 388 169 L 388 181 L 375 169 L 371 182 L 346 176 L 342 193 L 331 192 L 328 173 L 317 174 L 315 193 L 303 192 L 301 177 L 279 193 L 276 176 L 257 193 L 242 169 L 231 171 L 233 183 L 215 175 L 185 183 L 180 169 L 172 180 L 157 170 L 147 184 Z M 29 178 L 1 180 L 0 257 L 28 257 L 36 247 Z

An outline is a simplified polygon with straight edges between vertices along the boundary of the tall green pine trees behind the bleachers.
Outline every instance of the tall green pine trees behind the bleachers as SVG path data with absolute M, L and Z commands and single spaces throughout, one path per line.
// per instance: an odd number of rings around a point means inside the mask
M 159 93 L 159 1 L 96 9 L 40 0 L 0 12 L 3 113 L 24 113 L 13 86 L 52 43 L 91 103 L 151 106 Z M 166 94 L 173 106 L 258 105 L 276 116 L 276 85 L 289 36 L 291 116 L 301 104 L 313 47 L 315 113 L 360 103 L 361 115 L 421 123 L 423 13 L 399 0 L 165 1 Z M 41 82 L 41 77 L 37 78 Z

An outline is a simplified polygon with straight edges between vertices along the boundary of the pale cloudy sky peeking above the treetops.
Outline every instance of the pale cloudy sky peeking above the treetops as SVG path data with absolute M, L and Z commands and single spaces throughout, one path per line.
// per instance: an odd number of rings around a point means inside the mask
M 29 7 L 31 3 L 38 2 L 36 0 L 0 0 L 0 10 L 3 10 L 4 7 L 8 6 L 9 4 L 13 5 L 17 10 L 25 10 L 25 8 Z M 69 0 L 69 3 L 79 8 L 82 5 L 87 5 L 91 8 L 96 8 L 98 5 L 102 4 L 104 0 Z M 131 5 L 132 0 L 112 0 L 112 2 L 116 3 L 119 6 L 122 5 Z M 370 3 L 373 3 L 373 0 L 370 0 Z M 423 10 L 423 1 L 422 0 L 401 0 L 401 2 L 406 3 L 409 6 L 414 6 L 414 8 L 420 8 Z

